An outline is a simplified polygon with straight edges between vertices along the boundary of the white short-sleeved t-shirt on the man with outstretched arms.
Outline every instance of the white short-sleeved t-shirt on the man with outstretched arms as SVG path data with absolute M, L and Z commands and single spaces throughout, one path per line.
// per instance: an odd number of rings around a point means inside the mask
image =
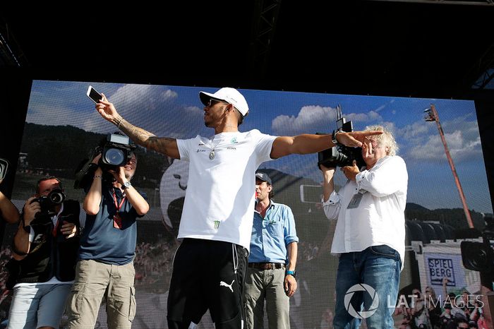
M 176 140 L 180 160 L 190 162 L 179 239 L 227 241 L 249 249 L 255 170 L 272 160 L 275 138 L 252 130 Z

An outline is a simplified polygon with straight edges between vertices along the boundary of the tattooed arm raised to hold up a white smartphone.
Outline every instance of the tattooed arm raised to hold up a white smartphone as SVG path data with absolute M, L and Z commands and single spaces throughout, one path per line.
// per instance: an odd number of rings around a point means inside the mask
M 96 104 L 96 110 L 101 116 L 112 122 L 123 133 L 130 137 L 135 143 L 150 150 L 163 153 L 169 157 L 180 159 L 179 148 L 174 138 L 157 137 L 155 134 L 145 131 L 143 128 L 133 126 L 116 112 L 114 104 L 108 102 L 107 97 L 102 94 L 103 99 Z

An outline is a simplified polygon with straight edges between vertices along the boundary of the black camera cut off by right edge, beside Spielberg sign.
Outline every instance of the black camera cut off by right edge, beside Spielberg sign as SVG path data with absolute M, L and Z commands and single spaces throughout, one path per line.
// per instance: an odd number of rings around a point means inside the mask
M 494 216 L 483 215 L 483 220 L 486 228 L 482 231 L 482 242 L 462 241 L 460 244 L 462 261 L 465 268 L 494 278 Z

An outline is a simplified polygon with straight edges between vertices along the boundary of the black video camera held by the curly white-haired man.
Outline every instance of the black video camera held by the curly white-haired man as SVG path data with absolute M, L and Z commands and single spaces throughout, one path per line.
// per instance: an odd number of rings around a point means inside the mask
M 337 131 L 344 131 L 346 133 L 350 133 L 354 131 L 354 126 L 351 124 L 351 121 L 346 121 L 344 117 L 342 117 L 342 107 L 338 105 L 336 107 L 337 110 Z M 327 133 L 317 133 L 318 135 L 327 135 Z M 357 166 L 360 168 L 366 164 L 363 161 L 362 157 L 362 148 L 351 148 L 349 146 L 345 146 L 342 144 L 338 144 L 335 147 L 328 148 L 327 150 L 323 150 L 318 153 L 318 167 L 323 164 L 328 168 L 335 167 L 345 167 L 351 166 L 356 160 Z

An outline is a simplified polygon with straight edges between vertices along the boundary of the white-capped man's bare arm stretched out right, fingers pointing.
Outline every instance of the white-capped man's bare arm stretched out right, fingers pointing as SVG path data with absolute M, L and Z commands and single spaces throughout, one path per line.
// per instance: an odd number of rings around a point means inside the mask
M 338 143 L 360 148 L 367 136 L 380 135 L 382 131 L 352 131 L 339 132 L 336 135 Z M 309 154 L 320 152 L 335 146 L 331 135 L 303 134 L 299 136 L 280 136 L 272 143 L 271 158 L 277 159 L 290 154 Z

